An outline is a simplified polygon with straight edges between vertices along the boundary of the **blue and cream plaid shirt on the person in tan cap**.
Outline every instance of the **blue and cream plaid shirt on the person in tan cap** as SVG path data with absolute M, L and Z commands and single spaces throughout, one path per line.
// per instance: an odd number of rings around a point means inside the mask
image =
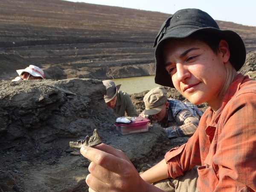
M 168 119 L 158 123 L 165 129 L 169 138 L 192 136 L 203 112 L 190 102 L 183 103 L 176 99 L 168 99 L 168 102 Z M 151 116 L 145 115 L 144 111 L 140 116 L 152 119 Z M 154 119 L 151 120 L 151 123 L 155 122 Z

